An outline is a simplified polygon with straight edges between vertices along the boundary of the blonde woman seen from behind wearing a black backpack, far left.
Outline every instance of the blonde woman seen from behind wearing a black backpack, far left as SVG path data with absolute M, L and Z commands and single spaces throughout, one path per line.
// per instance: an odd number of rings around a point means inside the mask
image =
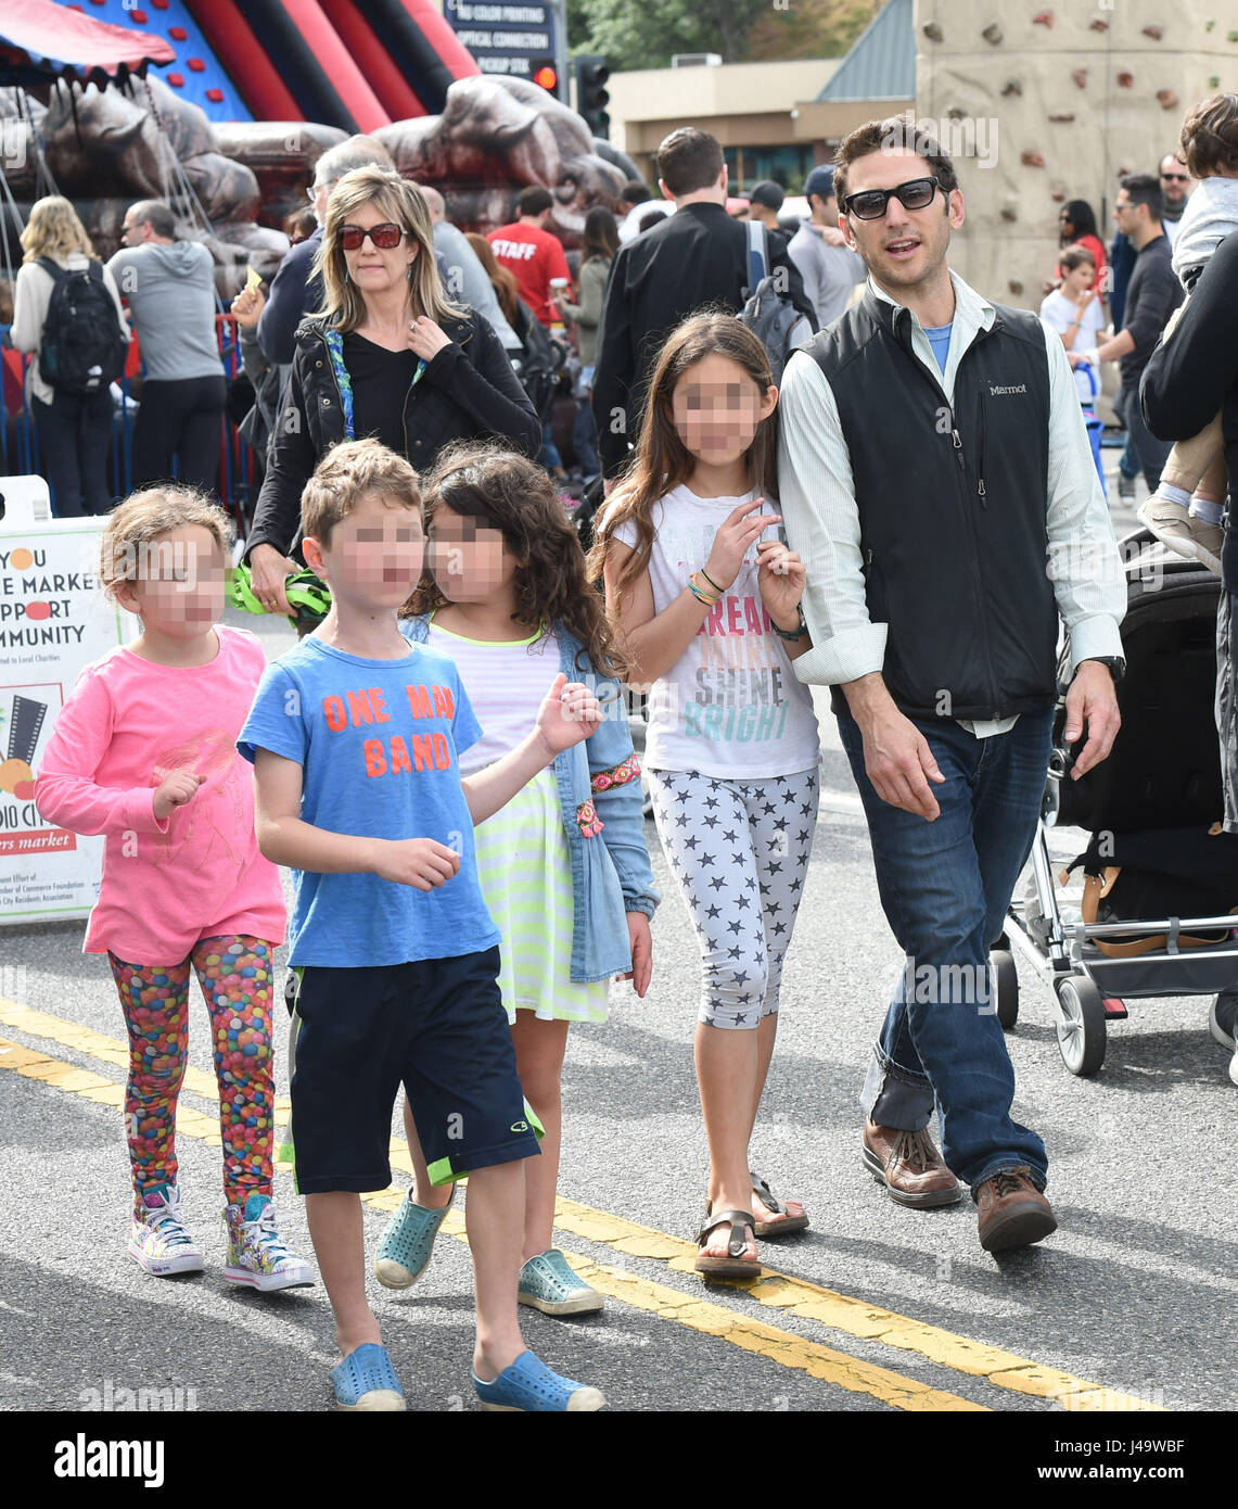
M 44 474 L 51 484 L 51 501 L 59 518 L 107 513 L 112 489 L 107 481 L 107 442 L 112 436 L 112 392 L 109 382 L 118 371 L 101 371 L 90 391 L 71 391 L 48 380 L 53 365 L 44 352 L 51 293 L 63 273 L 87 273 L 116 308 L 116 330 L 103 332 L 98 321 L 90 347 L 110 347 L 113 355 L 128 341 L 128 326 L 121 311 L 121 296 L 112 273 L 100 263 L 86 228 L 68 199 L 50 195 L 30 208 L 21 232 L 26 255 L 14 290 L 12 343 L 20 352 L 38 352 L 30 362 L 30 410 L 39 433 Z M 51 266 L 47 266 L 47 258 Z M 59 273 L 54 273 L 51 267 Z M 103 337 L 98 341 L 98 337 Z

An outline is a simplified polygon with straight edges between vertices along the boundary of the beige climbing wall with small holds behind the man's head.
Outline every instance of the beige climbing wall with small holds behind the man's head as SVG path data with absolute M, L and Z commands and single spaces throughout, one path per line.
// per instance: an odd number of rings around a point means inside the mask
M 1238 89 L 1233 0 L 917 0 L 915 39 L 920 119 L 965 149 L 951 266 L 1030 309 L 1062 204 L 1087 199 L 1108 244 L 1120 174 L 1155 174 L 1187 109 Z

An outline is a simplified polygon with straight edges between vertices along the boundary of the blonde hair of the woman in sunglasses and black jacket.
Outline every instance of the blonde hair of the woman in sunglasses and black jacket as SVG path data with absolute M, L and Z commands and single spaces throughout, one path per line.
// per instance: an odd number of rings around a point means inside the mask
M 377 164 L 354 167 L 345 174 L 327 199 L 323 241 L 314 258 L 314 272 L 323 275 L 324 288 L 323 308 L 317 314 L 344 333 L 365 323 L 365 297 L 348 278 L 342 232 L 348 216 L 366 204 L 377 205 L 419 247 L 409 278 L 409 302 L 413 311 L 427 315 L 436 324 L 463 318 L 467 309 L 454 303 L 443 291 L 434 257 L 434 228 L 421 189 L 401 178 L 395 169 Z

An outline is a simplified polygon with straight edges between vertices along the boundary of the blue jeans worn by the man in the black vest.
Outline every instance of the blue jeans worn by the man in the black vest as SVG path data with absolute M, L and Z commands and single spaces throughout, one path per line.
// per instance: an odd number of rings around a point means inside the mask
M 849 712 L 838 717 L 873 845 L 885 917 L 908 955 L 864 1083 L 878 1126 L 918 1132 L 936 1102 L 941 1151 L 973 1191 L 1027 1165 L 1039 1186 L 1045 1144 L 1010 1120 L 1015 1070 L 995 1000 L 989 948 L 1001 936 L 1031 850 L 1048 771 L 1051 712 L 977 739 L 950 720 L 912 720 L 941 767 L 933 822 L 882 801 Z

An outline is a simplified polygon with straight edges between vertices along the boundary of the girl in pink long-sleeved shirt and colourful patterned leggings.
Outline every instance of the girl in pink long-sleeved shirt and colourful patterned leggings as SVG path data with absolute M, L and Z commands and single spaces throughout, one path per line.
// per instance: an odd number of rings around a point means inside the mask
M 35 801 L 50 822 L 107 839 L 84 948 L 107 954 L 130 1038 L 130 1255 L 158 1277 L 204 1268 L 181 1224 L 175 1153 L 192 966 L 219 1077 L 225 1277 L 267 1292 L 314 1278 L 280 1242 L 271 1207 L 271 952 L 287 917 L 235 747 L 265 655 L 252 634 L 216 622 L 229 533 L 188 487 L 151 487 L 112 513 L 100 578 L 142 634 L 78 678 Z

